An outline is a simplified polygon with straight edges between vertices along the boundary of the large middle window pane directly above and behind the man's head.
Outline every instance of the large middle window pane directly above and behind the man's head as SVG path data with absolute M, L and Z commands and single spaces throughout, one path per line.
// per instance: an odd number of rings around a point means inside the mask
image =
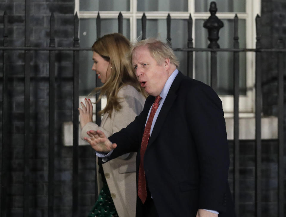
M 173 19 L 171 21 L 171 43 L 172 47 L 187 47 L 188 40 L 188 25 L 187 20 Z M 139 40 L 142 38 L 142 23 L 141 20 L 137 20 L 137 36 Z M 159 40 L 166 42 L 167 38 L 167 21 L 147 19 L 146 23 L 146 38 L 158 38 Z M 179 70 L 183 74 L 187 74 L 187 53 L 184 51 L 175 51 L 176 57 L 180 61 Z

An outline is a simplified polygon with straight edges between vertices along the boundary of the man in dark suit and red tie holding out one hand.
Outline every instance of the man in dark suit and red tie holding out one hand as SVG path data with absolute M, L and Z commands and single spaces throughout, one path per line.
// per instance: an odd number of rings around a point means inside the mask
M 131 61 L 150 95 L 142 113 L 109 138 L 91 130 L 85 139 L 103 162 L 138 152 L 137 217 L 234 217 L 219 97 L 179 72 L 172 49 L 161 41 L 138 42 Z

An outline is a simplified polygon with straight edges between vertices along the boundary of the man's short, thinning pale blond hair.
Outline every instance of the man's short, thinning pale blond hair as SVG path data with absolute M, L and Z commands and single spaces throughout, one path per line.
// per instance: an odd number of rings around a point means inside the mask
M 156 60 L 159 65 L 164 62 L 165 58 L 169 58 L 171 64 L 174 64 L 176 67 L 179 67 L 180 63 L 178 61 L 178 58 L 175 56 L 172 48 L 170 48 L 166 43 L 163 43 L 155 38 L 147 38 L 145 40 L 137 41 L 136 43 L 134 43 L 130 49 L 129 58 L 131 62 L 134 49 L 141 46 L 147 46 L 151 56 Z

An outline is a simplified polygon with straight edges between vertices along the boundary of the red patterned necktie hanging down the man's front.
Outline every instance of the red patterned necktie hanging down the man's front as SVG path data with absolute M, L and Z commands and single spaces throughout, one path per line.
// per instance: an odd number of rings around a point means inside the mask
M 138 174 L 138 196 L 141 199 L 143 204 L 147 198 L 146 177 L 145 177 L 145 171 L 144 171 L 144 154 L 145 154 L 147 144 L 149 141 L 149 137 L 150 137 L 150 129 L 151 129 L 152 121 L 159 107 L 160 100 L 161 100 L 161 96 L 156 96 L 155 102 L 152 106 L 148 121 L 144 129 L 143 138 L 141 142 L 141 148 L 140 148 L 140 165 L 139 165 L 139 174 Z

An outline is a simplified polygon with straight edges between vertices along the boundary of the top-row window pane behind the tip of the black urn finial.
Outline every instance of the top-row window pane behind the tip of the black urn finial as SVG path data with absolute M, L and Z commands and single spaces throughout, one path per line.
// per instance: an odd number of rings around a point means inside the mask
M 208 12 L 213 0 L 195 0 L 196 12 Z M 245 0 L 216 0 L 218 12 L 245 12 Z

